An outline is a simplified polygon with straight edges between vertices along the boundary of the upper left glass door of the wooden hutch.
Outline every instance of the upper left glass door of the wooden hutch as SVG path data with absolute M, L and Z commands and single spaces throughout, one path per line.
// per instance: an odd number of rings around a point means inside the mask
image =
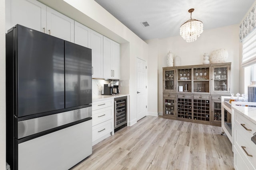
M 176 69 L 163 69 L 163 91 L 176 91 Z

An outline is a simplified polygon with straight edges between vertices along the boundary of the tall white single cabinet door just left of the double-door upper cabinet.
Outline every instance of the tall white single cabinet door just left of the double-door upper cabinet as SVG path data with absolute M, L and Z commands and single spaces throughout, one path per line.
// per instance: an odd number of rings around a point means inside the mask
M 92 78 L 103 78 L 103 35 L 91 30 Z

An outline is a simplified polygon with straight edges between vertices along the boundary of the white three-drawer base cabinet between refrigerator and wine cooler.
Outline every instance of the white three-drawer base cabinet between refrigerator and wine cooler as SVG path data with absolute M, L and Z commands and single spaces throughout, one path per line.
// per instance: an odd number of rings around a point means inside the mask
M 114 135 L 114 99 L 92 103 L 92 145 Z

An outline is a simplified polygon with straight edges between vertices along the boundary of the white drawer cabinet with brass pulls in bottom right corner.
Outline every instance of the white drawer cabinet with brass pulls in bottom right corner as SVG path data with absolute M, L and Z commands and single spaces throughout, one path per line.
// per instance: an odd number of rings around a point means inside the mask
M 234 168 L 256 170 L 256 144 L 251 140 L 256 124 L 234 111 Z

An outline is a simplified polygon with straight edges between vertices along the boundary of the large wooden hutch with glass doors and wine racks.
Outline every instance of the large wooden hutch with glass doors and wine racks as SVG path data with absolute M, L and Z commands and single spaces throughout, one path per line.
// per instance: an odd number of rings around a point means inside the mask
M 231 63 L 163 67 L 163 118 L 221 126 Z M 225 113 L 224 121 L 230 122 Z

